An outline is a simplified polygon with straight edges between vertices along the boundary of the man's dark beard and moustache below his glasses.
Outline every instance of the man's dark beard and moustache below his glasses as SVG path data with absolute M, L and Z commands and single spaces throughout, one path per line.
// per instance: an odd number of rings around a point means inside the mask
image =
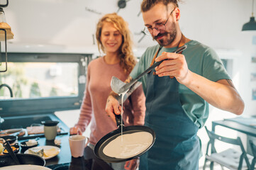
M 166 40 L 165 39 L 157 40 L 157 38 L 162 35 L 167 35 L 167 39 Z M 177 35 L 177 30 L 175 28 L 175 24 L 172 23 L 172 28 L 169 32 L 158 33 L 157 36 L 153 37 L 153 40 L 156 40 L 158 42 L 158 44 L 161 46 L 167 46 L 167 45 L 170 45 L 174 41 L 174 39 L 176 38 L 176 35 Z

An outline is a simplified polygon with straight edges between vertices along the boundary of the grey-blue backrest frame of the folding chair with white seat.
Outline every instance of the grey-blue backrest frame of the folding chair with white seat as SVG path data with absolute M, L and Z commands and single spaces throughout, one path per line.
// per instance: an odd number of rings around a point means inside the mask
M 206 127 L 205 127 L 206 128 Z M 242 151 L 242 154 L 240 156 L 240 162 L 239 162 L 239 166 L 241 168 L 242 164 L 243 164 L 243 159 L 245 159 L 245 162 L 247 164 L 247 167 L 249 168 L 250 167 L 250 162 L 249 162 L 249 159 L 247 157 L 247 154 L 245 152 L 245 148 L 243 147 L 243 143 L 240 139 L 240 137 L 238 137 L 237 139 L 232 139 L 232 138 L 228 138 L 228 137 L 223 137 L 221 135 L 217 135 L 215 132 L 213 131 L 210 131 L 206 128 L 206 132 L 208 134 L 208 137 L 209 137 L 209 142 L 208 142 L 208 145 L 207 145 L 207 149 L 206 149 L 206 154 L 208 154 L 208 149 L 209 149 L 209 146 L 211 145 L 211 153 L 216 153 L 216 148 L 214 146 L 214 142 L 215 140 L 219 140 L 219 141 L 222 141 L 222 142 L 226 142 L 228 144 L 231 144 L 231 145 L 238 145 Z

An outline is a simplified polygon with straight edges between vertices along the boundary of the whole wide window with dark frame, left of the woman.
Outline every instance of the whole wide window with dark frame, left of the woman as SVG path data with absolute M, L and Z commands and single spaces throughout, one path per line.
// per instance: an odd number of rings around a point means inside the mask
M 8 72 L 0 74 L 0 116 L 80 107 L 91 54 L 9 53 L 8 60 Z

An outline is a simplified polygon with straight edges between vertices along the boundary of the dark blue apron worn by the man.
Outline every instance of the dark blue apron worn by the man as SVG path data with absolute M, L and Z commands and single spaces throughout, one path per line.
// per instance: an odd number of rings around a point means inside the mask
M 154 72 L 147 75 L 145 126 L 155 130 L 156 140 L 140 157 L 139 169 L 199 169 L 199 128 L 182 108 L 179 82 Z

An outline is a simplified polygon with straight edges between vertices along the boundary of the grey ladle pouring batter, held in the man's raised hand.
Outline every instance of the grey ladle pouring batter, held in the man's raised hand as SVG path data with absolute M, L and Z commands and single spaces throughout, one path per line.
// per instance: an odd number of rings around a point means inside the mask
M 183 50 L 185 50 L 187 48 L 187 45 L 183 45 L 182 47 L 179 47 L 177 50 L 174 51 L 174 53 L 179 53 L 182 52 Z M 167 59 L 166 59 L 167 60 Z M 133 86 L 133 84 L 135 84 L 136 81 L 138 81 L 141 77 L 143 77 L 146 73 L 150 72 L 152 69 L 154 69 L 155 67 L 157 67 L 158 65 L 160 65 L 163 61 L 162 60 L 160 62 L 155 62 L 155 64 L 152 64 L 151 67 L 149 67 L 148 69 L 146 69 L 142 74 L 140 74 L 138 77 L 136 77 L 135 79 L 133 79 L 132 81 L 130 81 L 129 83 L 124 83 L 123 81 L 121 81 L 120 79 L 118 79 L 117 77 L 112 77 L 111 79 L 111 89 L 116 93 L 116 94 L 123 94 L 125 91 L 128 91 L 128 89 L 130 89 L 131 86 Z

